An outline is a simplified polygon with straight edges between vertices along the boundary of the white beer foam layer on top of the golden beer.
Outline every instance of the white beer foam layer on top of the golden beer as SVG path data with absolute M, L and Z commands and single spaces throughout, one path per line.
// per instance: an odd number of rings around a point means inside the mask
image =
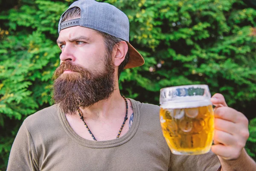
M 168 101 L 160 105 L 163 109 L 183 109 L 183 108 L 193 108 L 193 107 L 202 107 L 212 105 L 212 102 L 209 100 L 198 100 L 194 101 L 189 97 L 189 101 L 184 101 L 186 97 L 183 97 L 182 101 Z

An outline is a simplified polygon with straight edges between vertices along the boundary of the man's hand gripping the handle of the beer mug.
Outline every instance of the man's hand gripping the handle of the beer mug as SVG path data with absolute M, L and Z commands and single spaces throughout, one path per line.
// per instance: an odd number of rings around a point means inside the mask
M 249 137 L 248 119 L 237 110 L 227 106 L 224 96 L 212 96 L 215 105 L 215 132 L 212 152 L 224 160 L 236 160 L 241 156 Z

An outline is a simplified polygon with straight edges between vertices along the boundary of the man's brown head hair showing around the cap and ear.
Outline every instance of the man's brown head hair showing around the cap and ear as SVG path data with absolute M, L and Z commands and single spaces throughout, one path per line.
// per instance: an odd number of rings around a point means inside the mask
M 62 17 L 61 22 L 76 19 L 76 18 L 79 18 L 79 17 L 81 17 L 81 10 L 78 7 L 74 7 L 74 8 L 68 9 L 65 12 L 65 14 Z M 109 56 L 112 55 L 113 48 L 120 41 L 123 41 L 122 39 L 116 38 L 115 36 L 109 35 L 107 33 L 104 33 L 104 32 L 98 31 L 98 30 L 96 30 L 96 32 L 98 32 L 99 34 L 101 34 L 103 36 L 104 41 L 105 41 L 105 48 L 106 48 L 106 51 L 107 51 Z M 118 67 L 118 78 L 119 78 L 122 70 L 124 70 L 125 65 L 129 62 L 129 58 L 130 58 L 130 55 L 129 55 L 129 50 L 128 50 L 126 55 L 125 55 L 124 61 L 122 61 L 122 63 Z

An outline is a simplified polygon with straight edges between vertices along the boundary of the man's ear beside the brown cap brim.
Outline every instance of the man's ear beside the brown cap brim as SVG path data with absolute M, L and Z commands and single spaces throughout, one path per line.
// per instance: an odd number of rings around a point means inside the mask
M 125 60 L 125 55 L 128 51 L 128 45 L 125 41 L 120 41 L 116 46 L 116 53 L 114 56 L 114 64 L 118 67 L 122 61 Z

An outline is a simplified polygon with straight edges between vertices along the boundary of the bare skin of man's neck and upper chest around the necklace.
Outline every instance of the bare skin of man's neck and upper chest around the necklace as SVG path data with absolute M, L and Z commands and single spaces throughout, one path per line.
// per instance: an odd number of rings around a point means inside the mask
M 119 137 L 123 136 L 129 130 L 129 120 L 133 114 L 131 102 L 128 101 L 128 120 L 122 129 Z M 116 139 L 117 133 L 124 122 L 126 105 L 125 100 L 119 93 L 119 89 L 116 89 L 108 100 L 102 100 L 99 103 L 81 109 L 81 114 L 84 117 L 84 121 L 90 128 L 94 137 L 98 141 Z M 82 138 L 93 140 L 90 133 L 84 126 L 84 122 L 81 121 L 79 115 L 67 115 L 67 121 L 71 128 Z

